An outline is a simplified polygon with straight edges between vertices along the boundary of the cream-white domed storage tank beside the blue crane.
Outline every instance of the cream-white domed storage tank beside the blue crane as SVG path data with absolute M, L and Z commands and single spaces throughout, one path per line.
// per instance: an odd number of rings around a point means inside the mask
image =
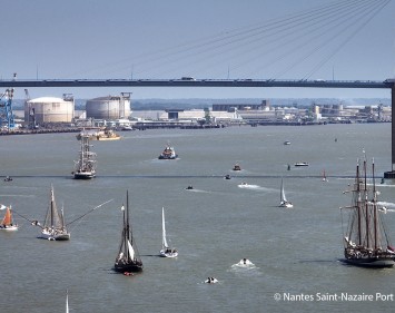
M 75 117 L 75 101 L 55 97 L 41 97 L 24 104 L 24 120 L 34 118 L 37 124 L 71 123 Z

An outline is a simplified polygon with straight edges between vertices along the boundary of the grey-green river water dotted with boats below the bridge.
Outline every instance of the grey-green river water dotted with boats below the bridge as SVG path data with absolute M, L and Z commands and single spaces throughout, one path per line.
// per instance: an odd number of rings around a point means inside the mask
M 43 221 L 51 184 L 69 222 L 113 199 L 71 224 L 69 242 L 38 239 L 39 228 L 16 216 L 19 231 L 0 233 L 1 312 L 65 312 L 67 291 L 71 312 L 393 310 L 395 268 L 366 270 L 338 262 L 339 207 L 350 204 L 343 192 L 353 182 L 363 149 L 367 158 L 375 158 L 377 176 L 391 169 L 391 124 L 121 135 L 118 141 L 93 141 L 98 175 L 86 182 L 71 178 L 79 150 L 76 134 L 0 137 L 0 175 L 13 177 L 0 182 L 0 203 L 19 214 Z M 168 141 L 179 159 L 157 159 Z M 294 167 L 296 162 L 309 166 Z M 236 163 L 239 173 L 231 170 Z M 227 174 L 233 178 L 224 179 Z M 282 177 L 292 209 L 277 207 Z M 188 185 L 194 190 L 187 190 Z M 378 184 L 393 241 L 394 187 L 389 180 Z M 135 276 L 111 271 L 126 190 L 145 266 Z M 179 251 L 175 260 L 157 256 L 161 207 L 168 241 Z M 255 266 L 235 266 L 243 257 Z M 208 276 L 219 283 L 203 283 Z M 345 293 L 373 300 L 345 300 Z

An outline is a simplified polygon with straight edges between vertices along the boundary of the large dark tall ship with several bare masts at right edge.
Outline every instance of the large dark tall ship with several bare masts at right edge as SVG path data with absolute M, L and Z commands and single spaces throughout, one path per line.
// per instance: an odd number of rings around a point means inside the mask
M 356 166 L 352 205 L 342 207 L 349 213 L 347 231 L 344 234 L 343 260 L 347 264 L 365 267 L 392 267 L 395 264 L 395 248 L 391 245 L 384 225 L 385 208 L 378 204 L 372 164 L 373 186 L 367 185 L 366 158 L 361 168 Z M 347 193 L 347 192 L 345 192 Z

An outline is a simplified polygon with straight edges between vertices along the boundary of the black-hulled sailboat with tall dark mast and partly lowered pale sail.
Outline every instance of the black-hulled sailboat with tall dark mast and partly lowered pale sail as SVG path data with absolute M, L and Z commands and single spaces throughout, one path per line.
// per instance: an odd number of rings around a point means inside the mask
M 138 254 L 131 225 L 129 224 L 129 193 L 126 194 L 126 209 L 124 212 L 122 237 L 119 245 L 119 252 L 113 265 L 113 271 L 120 273 L 141 272 L 142 262 Z

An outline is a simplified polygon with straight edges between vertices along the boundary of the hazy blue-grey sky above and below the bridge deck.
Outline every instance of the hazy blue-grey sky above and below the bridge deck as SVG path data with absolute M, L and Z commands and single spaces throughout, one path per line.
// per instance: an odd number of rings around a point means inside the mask
M 0 79 L 395 77 L 394 0 L 2 0 Z M 388 89 L 30 88 L 31 97 L 389 98 Z M 16 98 L 24 91 L 16 90 Z

